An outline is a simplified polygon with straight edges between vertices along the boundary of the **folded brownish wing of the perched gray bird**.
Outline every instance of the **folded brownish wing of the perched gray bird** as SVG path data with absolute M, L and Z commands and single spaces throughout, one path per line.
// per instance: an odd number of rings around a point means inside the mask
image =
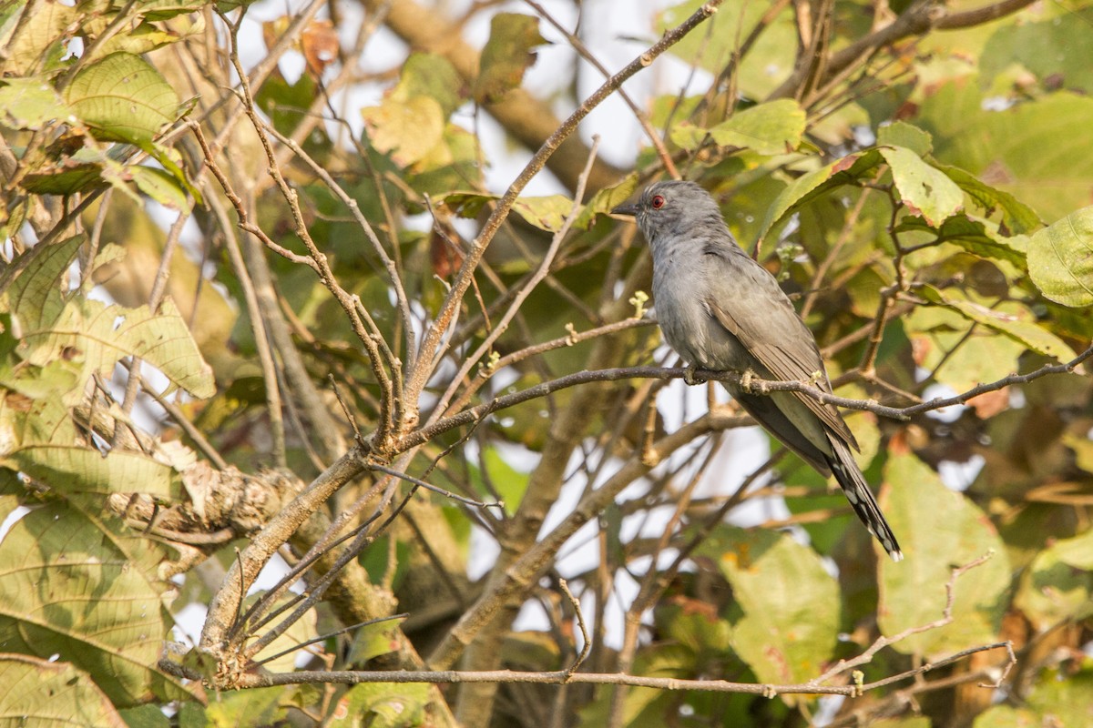
M 764 272 L 765 273 L 765 272 Z M 773 285 L 777 285 L 774 281 Z M 780 289 L 778 291 L 780 294 Z M 769 300 L 771 306 L 728 307 L 708 299 L 709 312 L 725 329 L 748 348 L 753 357 L 776 379 L 787 382 L 809 381 L 819 371 L 815 385 L 831 392 L 831 382 L 824 373 L 823 359 L 815 347 L 812 332 L 801 322 L 792 306 L 785 300 Z M 838 410 L 802 392 L 795 392 L 800 399 L 835 434 L 855 450 L 858 443 Z

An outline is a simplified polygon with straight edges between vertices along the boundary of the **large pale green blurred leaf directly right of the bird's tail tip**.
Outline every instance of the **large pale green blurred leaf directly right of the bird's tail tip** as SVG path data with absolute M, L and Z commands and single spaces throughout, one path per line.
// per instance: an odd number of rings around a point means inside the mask
M 941 619 L 952 568 L 994 550 L 986 563 L 956 581 L 951 623 L 913 634 L 892 647 L 932 658 L 997 640 L 1008 602 L 1010 565 L 990 521 L 914 455 L 890 456 L 884 484 L 882 505 L 907 558 L 900 563 L 880 560 L 881 633 L 891 637 Z

